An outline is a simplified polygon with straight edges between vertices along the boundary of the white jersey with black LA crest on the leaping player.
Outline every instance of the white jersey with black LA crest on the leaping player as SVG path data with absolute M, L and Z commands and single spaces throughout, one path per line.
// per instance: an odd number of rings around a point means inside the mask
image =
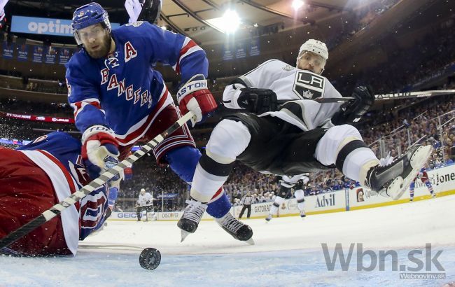
M 281 118 L 303 131 L 316 127 L 332 127 L 330 118 L 339 111 L 341 104 L 321 104 L 311 99 L 340 98 L 341 94 L 324 76 L 297 69 L 278 59 L 264 62 L 240 77 L 248 87 L 273 90 L 278 101 L 289 101 L 279 111 L 258 115 Z M 223 103 L 229 109 L 241 109 L 237 103 L 241 85 L 228 85 L 223 92 Z

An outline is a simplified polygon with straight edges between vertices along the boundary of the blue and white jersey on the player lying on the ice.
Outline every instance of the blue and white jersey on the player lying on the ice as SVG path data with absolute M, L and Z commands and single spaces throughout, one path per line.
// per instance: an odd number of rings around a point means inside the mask
M 65 132 L 51 132 L 18 148 L 48 174 L 60 201 L 90 182 L 80 149 L 80 141 Z M 102 227 L 106 221 L 108 195 L 104 185 L 62 212 L 64 235 L 70 249 L 74 245 L 71 241 L 76 241 L 77 246 L 79 239 Z

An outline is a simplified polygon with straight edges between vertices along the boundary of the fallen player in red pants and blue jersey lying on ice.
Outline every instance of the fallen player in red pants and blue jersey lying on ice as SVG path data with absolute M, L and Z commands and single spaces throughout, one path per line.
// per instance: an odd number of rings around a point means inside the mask
M 87 174 L 80 149 L 80 141 L 64 132 L 39 137 L 18 150 L 0 148 L 0 238 L 75 193 L 90 176 L 99 176 Z M 0 253 L 76 255 L 78 240 L 106 220 L 108 197 L 107 185 L 92 191 Z

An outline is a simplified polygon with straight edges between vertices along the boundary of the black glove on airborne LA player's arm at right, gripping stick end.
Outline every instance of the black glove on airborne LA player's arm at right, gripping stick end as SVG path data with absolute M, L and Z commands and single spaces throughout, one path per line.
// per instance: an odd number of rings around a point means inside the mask
M 335 113 L 332 117 L 334 125 L 357 122 L 374 103 L 374 92 L 370 86 L 356 87 L 351 97 L 354 98 L 353 101 L 342 106 L 342 111 Z

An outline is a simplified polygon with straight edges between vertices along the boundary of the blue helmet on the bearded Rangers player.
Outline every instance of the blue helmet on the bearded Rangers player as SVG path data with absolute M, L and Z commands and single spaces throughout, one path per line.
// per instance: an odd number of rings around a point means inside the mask
M 111 31 L 111 22 L 109 22 L 107 11 L 99 3 L 92 2 L 77 8 L 73 13 L 73 20 L 71 22 L 76 43 L 78 45 L 82 44 L 78 30 L 98 23 L 101 23 L 109 32 Z

